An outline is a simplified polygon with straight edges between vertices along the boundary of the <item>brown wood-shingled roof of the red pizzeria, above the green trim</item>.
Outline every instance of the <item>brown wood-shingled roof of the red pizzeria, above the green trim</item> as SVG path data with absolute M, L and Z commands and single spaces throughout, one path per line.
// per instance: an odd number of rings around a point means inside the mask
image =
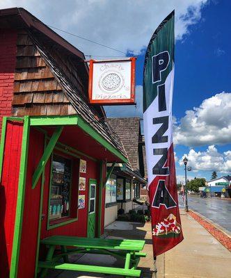
M 80 115 L 127 157 L 120 138 L 104 121 L 101 106 L 88 104 L 84 54 L 23 8 L 0 10 L 0 28 L 15 28 L 22 35 L 17 42 L 14 115 Z

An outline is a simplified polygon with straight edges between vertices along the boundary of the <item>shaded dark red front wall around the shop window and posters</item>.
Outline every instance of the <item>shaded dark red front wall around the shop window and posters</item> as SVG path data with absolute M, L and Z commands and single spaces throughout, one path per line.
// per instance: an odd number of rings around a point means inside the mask
M 35 270 L 35 256 L 37 249 L 38 238 L 38 218 L 40 207 L 40 186 L 41 181 L 38 182 L 35 189 L 31 189 L 31 179 L 36 165 L 42 156 L 42 149 L 44 146 L 44 136 L 42 133 L 31 129 L 30 145 L 29 145 L 29 158 L 28 158 L 28 170 L 26 181 L 26 193 L 24 199 L 24 219 L 22 228 L 22 240 L 19 254 L 19 270 L 18 278 L 33 277 Z M 66 156 L 63 153 L 56 154 Z M 68 158 L 68 156 L 66 156 Z M 70 156 L 71 159 L 75 158 Z M 72 186 L 76 186 L 78 189 L 78 175 L 80 177 L 86 177 L 86 190 L 80 191 L 81 195 L 86 195 L 85 208 L 78 210 L 78 220 L 70 224 L 56 227 L 54 229 L 47 230 L 47 214 L 48 214 L 48 199 L 49 199 L 49 182 L 50 182 L 50 167 L 51 161 L 47 163 L 45 169 L 45 188 L 43 196 L 42 214 L 45 215 L 42 220 L 42 228 L 40 238 L 45 238 L 52 235 L 66 235 L 66 236 L 83 236 L 87 234 L 87 222 L 88 222 L 88 182 L 89 179 L 97 179 L 97 185 L 99 185 L 99 163 L 83 157 L 87 161 L 87 173 L 79 174 L 79 161 L 74 162 L 74 171 Z M 75 176 L 75 178 L 74 178 Z M 73 193 L 73 191 L 72 191 Z M 76 194 L 77 196 L 77 191 Z

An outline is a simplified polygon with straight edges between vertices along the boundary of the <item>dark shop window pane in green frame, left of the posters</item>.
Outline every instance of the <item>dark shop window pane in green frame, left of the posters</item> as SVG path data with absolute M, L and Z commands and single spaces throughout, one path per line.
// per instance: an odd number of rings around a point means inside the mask
M 54 220 L 70 217 L 72 161 L 53 156 L 49 195 L 49 224 Z

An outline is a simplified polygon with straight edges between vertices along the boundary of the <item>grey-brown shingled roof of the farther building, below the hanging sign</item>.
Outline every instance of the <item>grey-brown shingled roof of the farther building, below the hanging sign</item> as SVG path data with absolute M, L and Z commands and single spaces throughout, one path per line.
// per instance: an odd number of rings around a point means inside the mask
M 106 121 L 120 137 L 129 162 L 132 165 L 132 170 L 138 170 L 138 142 L 141 133 L 140 118 L 109 117 Z

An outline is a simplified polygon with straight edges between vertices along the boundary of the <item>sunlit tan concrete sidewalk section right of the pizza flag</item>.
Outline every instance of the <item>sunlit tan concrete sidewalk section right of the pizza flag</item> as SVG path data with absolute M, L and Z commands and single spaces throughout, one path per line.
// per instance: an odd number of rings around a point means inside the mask
M 184 211 L 181 219 L 184 240 L 166 252 L 162 277 L 231 277 L 231 253 Z

